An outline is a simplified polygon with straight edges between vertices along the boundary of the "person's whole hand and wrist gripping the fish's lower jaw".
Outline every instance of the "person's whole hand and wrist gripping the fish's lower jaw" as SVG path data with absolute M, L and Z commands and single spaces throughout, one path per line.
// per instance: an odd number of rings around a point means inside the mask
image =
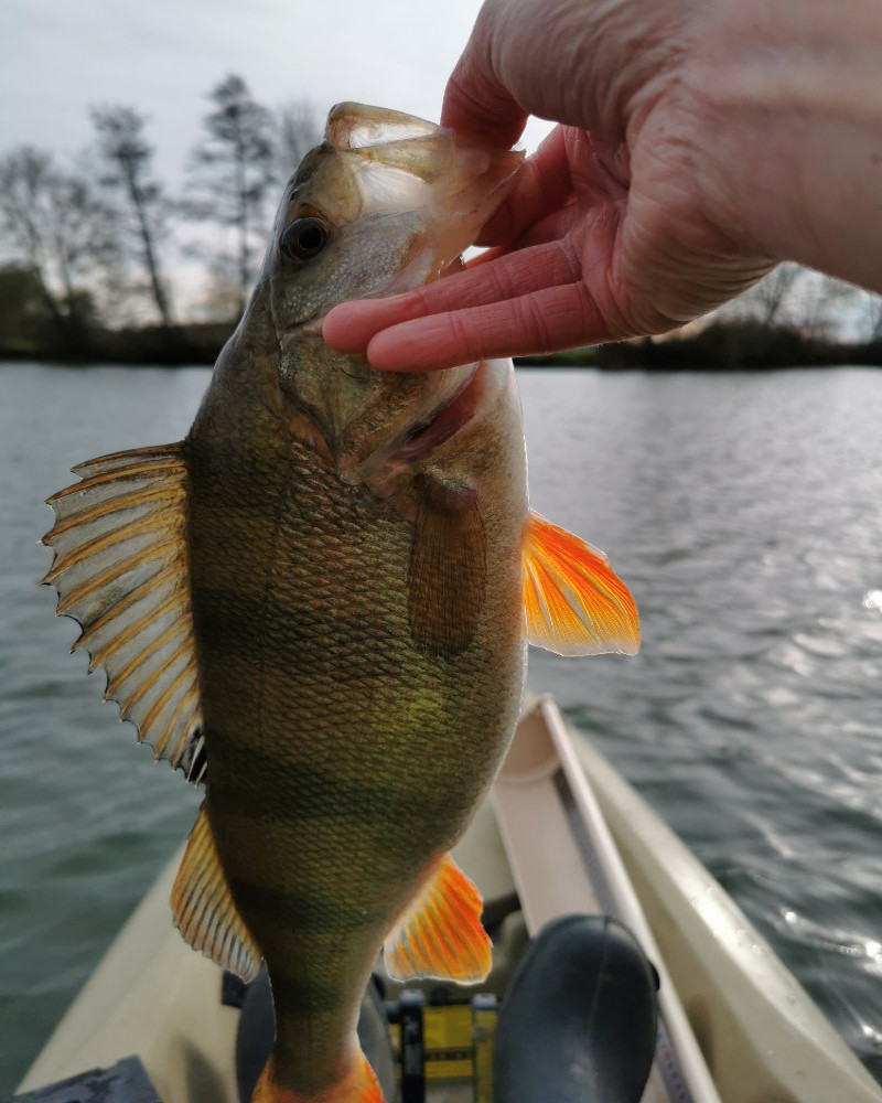
M 882 31 L 867 0 L 808 2 L 814 24 L 804 3 L 761 0 L 486 0 L 442 124 L 497 148 L 528 114 L 560 125 L 484 227 L 486 254 L 335 308 L 325 340 L 424 371 L 664 332 L 782 259 L 882 286 L 864 171 L 882 97 L 850 93 Z

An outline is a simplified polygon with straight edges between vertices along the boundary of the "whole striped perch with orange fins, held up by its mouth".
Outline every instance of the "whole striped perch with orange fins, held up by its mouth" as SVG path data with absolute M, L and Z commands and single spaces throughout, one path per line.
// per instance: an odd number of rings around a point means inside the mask
M 267 963 L 255 1103 L 380 1103 L 355 1029 L 378 954 L 402 979 L 490 970 L 449 852 L 512 737 L 527 641 L 637 647 L 603 556 L 529 510 L 510 362 L 384 374 L 321 340 L 335 303 L 461 267 L 520 162 L 334 108 L 186 439 L 80 464 L 50 500 L 75 646 L 205 786 L 174 921 L 246 979 Z

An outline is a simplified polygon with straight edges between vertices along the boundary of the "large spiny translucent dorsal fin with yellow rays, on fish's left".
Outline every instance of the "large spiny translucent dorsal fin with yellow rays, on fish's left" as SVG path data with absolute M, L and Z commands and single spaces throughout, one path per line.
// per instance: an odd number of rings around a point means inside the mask
M 43 579 L 58 614 L 83 629 L 89 671 L 107 674 L 138 740 L 189 780 L 205 770 L 186 555 L 187 474 L 181 445 L 103 456 L 49 499 L 55 553 Z

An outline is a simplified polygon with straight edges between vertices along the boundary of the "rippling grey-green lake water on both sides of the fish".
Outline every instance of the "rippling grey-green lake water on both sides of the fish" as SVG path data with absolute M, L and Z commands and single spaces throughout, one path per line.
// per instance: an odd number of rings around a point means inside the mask
M 0 367 L 0 1095 L 197 793 L 66 654 L 42 500 L 176 440 L 201 368 Z M 882 373 L 520 373 L 533 504 L 604 548 L 636 658 L 530 685 L 662 812 L 882 1081 Z M 837 1101 L 838 1103 L 838 1101 Z

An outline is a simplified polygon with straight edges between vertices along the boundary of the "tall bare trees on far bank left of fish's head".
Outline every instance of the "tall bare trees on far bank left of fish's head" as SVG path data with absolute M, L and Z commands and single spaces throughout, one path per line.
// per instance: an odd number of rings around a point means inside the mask
M 158 178 L 148 119 L 130 105 L 92 109 L 94 142 L 73 167 L 28 144 L 0 158 L 0 245 L 11 258 L 0 268 L 0 332 L 39 320 L 76 350 L 97 328 L 238 317 L 279 190 L 321 122 L 305 101 L 271 110 L 235 74 L 207 98 L 180 195 Z

